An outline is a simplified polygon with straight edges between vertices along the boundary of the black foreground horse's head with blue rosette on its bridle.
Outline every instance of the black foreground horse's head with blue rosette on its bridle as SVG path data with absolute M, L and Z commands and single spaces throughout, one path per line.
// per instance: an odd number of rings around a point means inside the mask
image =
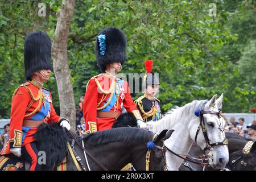
M 171 136 L 174 130 L 167 133 L 163 130 L 159 135 L 155 134 L 151 141 L 144 144 L 143 148 L 137 149 L 132 164 L 137 170 L 163 171 L 166 169 L 166 148 L 163 139 L 166 135 Z M 167 133 L 167 134 L 166 134 Z

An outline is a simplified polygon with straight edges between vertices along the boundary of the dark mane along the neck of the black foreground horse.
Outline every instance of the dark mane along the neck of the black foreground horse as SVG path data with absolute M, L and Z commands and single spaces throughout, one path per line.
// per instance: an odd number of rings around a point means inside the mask
M 137 142 L 144 143 L 152 140 L 153 133 L 148 130 L 133 127 L 118 127 L 115 129 L 98 131 L 83 136 L 81 139 L 87 144 L 96 146 L 109 142 Z

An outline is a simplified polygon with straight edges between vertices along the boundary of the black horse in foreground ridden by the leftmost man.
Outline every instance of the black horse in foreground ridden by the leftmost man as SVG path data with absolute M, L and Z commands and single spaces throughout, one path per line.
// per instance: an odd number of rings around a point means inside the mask
M 45 170 L 57 169 L 61 160 L 66 156 L 67 170 L 77 170 L 80 162 L 74 162 L 72 155 L 67 150 L 68 137 L 67 134 L 60 129 L 59 126 L 40 126 L 40 130 L 35 135 L 39 145 L 40 151 L 45 151 L 47 159 L 44 165 Z M 54 129 L 53 129 L 54 127 Z M 84 137 L 77 138 L 79 143 L 71 144 L 78 156 L 84 164 L 86 169 L 90 170 L 103 170 L 105 167 L 108 170 L 120 170 L 126 164 L 132 163 L 137 170 L 146 169 L 146 154 L 150 151 L 149 170 L 164 170 L 166 166 L 165 150 L 163 147 L 163 138 L 167 130 L 160 133 L 158 136 L 154 135 L 151 131 L 121 127 L 117 129 L 98 131 L 96 133 L 85 135 Z M 52 138 L 54 135 L 54 138 Z M 56 136 L 57 135 L 57 136 Z M 156 136 L 156 137 L 154 137 Z M 57 139 L 56 139 L 57 138 Z M 55 143 L 54 140 L 59 143 Z M 72 143 L 73 140 L 70 140 Z M 150 142 L 151 147 L 149 150 L 147 144 Z M 154 142 L 154 144 L 152 144 Z M 84 154 L 84 148 L 93 155 L 97 160 L 92 159 L 89 155 Z M 154 147 L 155 146 L 155 147 Z M 61 148 L 61 150 L 59 150 Z M 25 170 L 25 162 L 21 158 L 7 158 L 6 156 L 0 157 L 0 170 Z M 56 164 L 56 165 L 55 165 Z M 79 164 L 79 166 L 77 166 Z M 80 166 L 81 169 L 81 166 Z

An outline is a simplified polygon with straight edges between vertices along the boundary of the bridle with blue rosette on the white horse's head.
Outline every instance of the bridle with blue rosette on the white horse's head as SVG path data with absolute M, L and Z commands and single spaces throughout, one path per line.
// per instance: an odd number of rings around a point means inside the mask
M 204 105 L 203 105 L 203 108 L 204 108 Z M 197 140 L 197 136 L 199 134 L 199 131 L 202 128 L 204 139 L 205 139 L 205 142 L 207 144 L 207 146 L 205 146 L 204 149 L 202 150 L 203 154 L 205 154 L 205 151 L 210 150 L 211 147 L 221 146 L 221 145 L 228 145 L 228 139 L 226 139 L 226 138 L 222 142 L 210 143 L 210 140 L 209 140 L 208 135 L 207 135 L 207 128 L 205 126 L 205 121 L 204 121 L 204 114 L 215 114 L 215 115 L 217 115 L 218 118 L 221 118 L 222 117 L 222 110 L 219 110 L 218 112 L 214 112 L 214 111 L 204 111 L 204 110 L 197 109 L 195 111 L 195 114 L 197 115 L 197 117 L 200 117 L 200 124 L 197 127 L 195 142 Z M 218 126 L 218 129 L 220 129 L 220 131 L 222 133 L 224 132 L 224 130 L 221 128 L 220 125 Z

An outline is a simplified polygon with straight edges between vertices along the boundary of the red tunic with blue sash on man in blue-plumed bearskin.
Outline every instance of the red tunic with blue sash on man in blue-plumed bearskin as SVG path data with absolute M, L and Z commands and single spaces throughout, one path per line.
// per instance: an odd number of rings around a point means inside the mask
M 121 114 L 123 107 L 134 113 L 135 117 L 141 118 L 131 98 L 127 81 L 108 73 L 90 78 L 84 97 L 85 130 L 90 129 L 88 122 L 96 123 L 97 129 L 94 131 L 111 129 L 115 118 L 97 117 L 97 111 Z

